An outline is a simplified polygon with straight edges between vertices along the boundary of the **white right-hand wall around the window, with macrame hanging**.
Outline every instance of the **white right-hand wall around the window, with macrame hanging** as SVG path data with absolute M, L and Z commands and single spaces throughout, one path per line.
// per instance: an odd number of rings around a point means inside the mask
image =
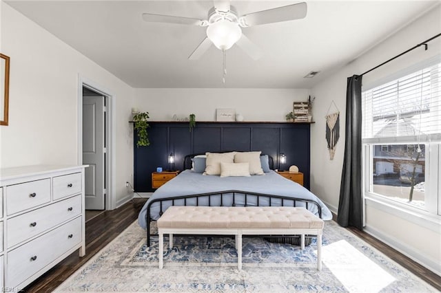
M 311 89 L 316 96 L 313 115 L 316 124 L 311 125 L 311 191 L 323 199 L 334 211 L 338 208 L 343 154 L 345 151 L 345 100 L 347 77 L 375 67 L 387 59 L 408 50 L 441 32 L 441 8 L 433 8 L 420 19 L 403 28 L 363 56 L 340 69 L 330 78 Z M 429 50 L 420 47 L 388 65 L 363 76 L 363 85 L 369 85 L 416 63 L 440 54 L 441 40 L 429 43 Z M 340 140 L 334 160 L 329 160 L 325 139 L 325 115 L 334 100 L 340 109 Z M 404 252 L 409 257 L 441 274 L 441 227 L 422 228 L 391 213 L 367 207 L 367 230 L 382 241 Z M 393 231 L 393 233 L 392 233 Z M 412 239 L 412 240 L 410 240 Z

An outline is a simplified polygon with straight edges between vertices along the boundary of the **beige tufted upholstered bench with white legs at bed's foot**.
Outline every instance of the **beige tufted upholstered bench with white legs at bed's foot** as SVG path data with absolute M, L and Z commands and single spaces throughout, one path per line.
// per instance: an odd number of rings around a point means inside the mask
M 242 235 L 300 235 L 305 249 L 305 235 L 317 236 L 317 270 L 322 269 L 321 248 L 324 222 L 305 208 L 285 206 L 170 206 L 157 221 L 159 268 L 163 268 L 164 234 L 235 235 L 238 269 L 242 269 Z

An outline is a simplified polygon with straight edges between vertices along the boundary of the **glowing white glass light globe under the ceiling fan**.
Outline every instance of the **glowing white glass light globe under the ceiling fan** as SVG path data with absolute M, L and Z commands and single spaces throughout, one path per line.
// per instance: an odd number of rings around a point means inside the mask
M 240 39 L 240 36 L 242 30 L 239 25 L 227 19 L 220 19 L 207 28 L 208 39 L 220 50 L 228 50 Z

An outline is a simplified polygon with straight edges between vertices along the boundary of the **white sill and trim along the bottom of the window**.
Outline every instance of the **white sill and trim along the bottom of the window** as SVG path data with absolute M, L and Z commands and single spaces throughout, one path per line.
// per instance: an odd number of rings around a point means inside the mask
M 406 221 L 410 221 L 413 224 L 427 228 L 433 232 L 440 232 L 441 217 L 427 213 L 424 210 L 418 210 L 417 208 L 402 208 L 398 202 L 391 201 L 385 198 L 376 199 L 376 195 L 366 194 L 366 206 L 371 206 L 377 210 L 381 210 L 384 213 L 400 217 Z M 377 196 L 378 197 L 378 196 Z

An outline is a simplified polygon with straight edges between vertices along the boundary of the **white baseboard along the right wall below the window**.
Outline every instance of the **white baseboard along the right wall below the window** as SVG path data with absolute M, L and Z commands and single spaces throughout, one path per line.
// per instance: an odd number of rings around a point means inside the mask
M 406 257 L 409 257 L 409 259 L 412 259 L 413 261 L 416 261 L 416 263 L 424 266 L 424 268 L 427 268 L 428 270 L 431 270 L 435 274 L 441 276 L 441 264 L 433 261 L 431 258 L 425 256 L 424 254 L 415 251 L 415 249 L 411 246 L 407 246 L 405 243 L 398 241 L 398 239 L 390 237 L 389 235 L 385 235 L 384 233 L 380 232 L 376 228 L 370 227 L 369 225 L 366 226 L 363 231 L 367 232 L 367 234 L 371 235 L 372 237 L 375 237 L 376 239 L 384 242 L 391 248 L 398 250 Z

